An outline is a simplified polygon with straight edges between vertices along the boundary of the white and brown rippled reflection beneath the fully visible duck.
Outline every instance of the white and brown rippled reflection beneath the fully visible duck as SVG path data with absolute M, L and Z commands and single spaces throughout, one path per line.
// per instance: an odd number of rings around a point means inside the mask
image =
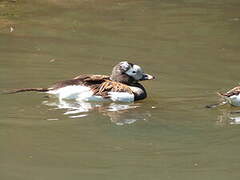
M 139 120 L 147 120 L 151 117 L 150 112 L 140 112 L 140 103 L 115 103 L 115 102 L 86 102 L 73 100 L 48 99 L 43 101 L 47 106 L 56 107 L 56 109 L 65 109 L 64 115 L 69 118 L 81 118 L 88 115 L 89 112 L 97 111 L 108 116 L 111 122 L 116 125 L 132 124 Z

